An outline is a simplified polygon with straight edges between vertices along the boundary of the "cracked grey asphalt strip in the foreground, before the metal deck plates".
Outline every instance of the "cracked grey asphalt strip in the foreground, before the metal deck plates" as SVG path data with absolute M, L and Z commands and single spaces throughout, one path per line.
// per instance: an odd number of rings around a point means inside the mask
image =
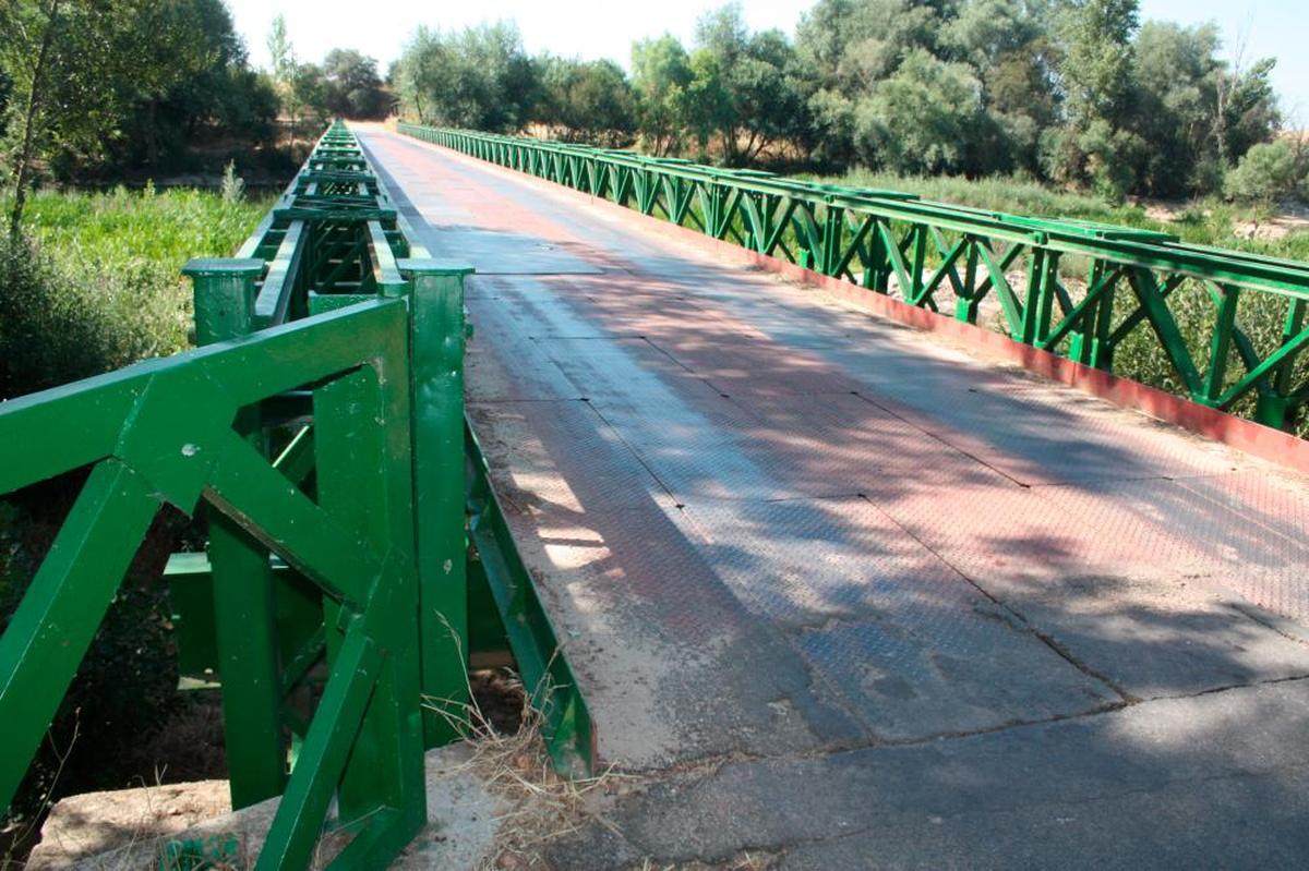
M 733 761 L 657 781 L 554 846 L 558 867 L 1292 867 L 1309 681 L 810 759 Z M 1237 800 L 1240 799 L 1240 800 Z

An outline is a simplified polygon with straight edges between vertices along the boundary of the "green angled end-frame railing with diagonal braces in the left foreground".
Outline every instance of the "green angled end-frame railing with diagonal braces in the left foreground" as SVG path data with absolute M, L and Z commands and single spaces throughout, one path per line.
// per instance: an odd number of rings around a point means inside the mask
M 262 864 L 308 864 L 338 782 L 343 819 L 367 820 L 359 853 L 395 851 L 423 825 L 406 322 L 402 299 L 373 299 L 0 408 L 4 443 L 29 446 L 0 468 L 0 492 L 90 467 L 0 638 L 4 804 L 152 519 L 203 502 L 334 609 L 330 675 Z M 242 426 L 293 390 L 314 407 L 317 498 L 296 451 L 270 462 Z M 226 581 L 250 596 L 253 579 Z

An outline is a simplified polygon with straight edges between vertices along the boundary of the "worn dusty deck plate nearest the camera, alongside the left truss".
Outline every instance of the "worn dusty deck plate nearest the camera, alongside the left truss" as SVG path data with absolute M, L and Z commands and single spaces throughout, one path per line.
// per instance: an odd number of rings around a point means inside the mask
M 592 420 L 586 420 L 586 415 Z M 474 407 L 520 552 L 624 766 L 867 740 L 750 615 L 584 403 Z

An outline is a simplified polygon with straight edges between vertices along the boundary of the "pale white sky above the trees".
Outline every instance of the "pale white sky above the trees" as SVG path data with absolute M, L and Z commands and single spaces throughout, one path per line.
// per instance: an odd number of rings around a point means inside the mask
M 480 21 L 513 18 L 528 51 L 548 50 L 584 59 L 611 58 L 624 67 L 634 39 L 669 31 L 690 42 L 695 20 L 715 0 L 228 0 L 250 58 L 267 65 L 264 41 L 274 16 L 287 17 L 287 30 L 304 60 L 318 60 L 331 48 L 357 48 L 381 61 L 394 60 L 414 29 L 463 27 Z M 747 0 L 746 20 L 755 29 L 795 33 L 812 0 Z M 1141 18 L 1182 24 L 1216 21 L 1230 51 L 1244 42 L 1245 58 L 1274 56 L 1274 82 L 1283 109 L 1299 127 L 1309 127 L 1309 3 L 1306 0 L 1141 0 Z

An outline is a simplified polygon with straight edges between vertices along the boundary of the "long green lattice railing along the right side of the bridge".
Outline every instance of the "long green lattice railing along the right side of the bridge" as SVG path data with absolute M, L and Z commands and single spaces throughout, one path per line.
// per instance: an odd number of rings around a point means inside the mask
M 1309 264 L 627 150 L 399 131 L 1268 426 L 1292 429 L 1309 403 Z

